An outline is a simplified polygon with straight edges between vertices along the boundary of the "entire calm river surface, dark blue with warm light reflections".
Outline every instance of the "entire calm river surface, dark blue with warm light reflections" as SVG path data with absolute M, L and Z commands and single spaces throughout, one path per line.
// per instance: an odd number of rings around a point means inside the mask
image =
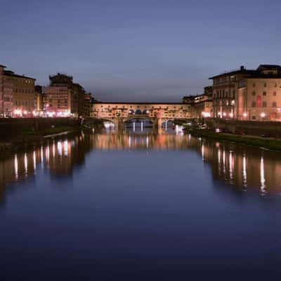
M 127 129 L 0 160 L 1 280 L 273 277 L 281 153 Z

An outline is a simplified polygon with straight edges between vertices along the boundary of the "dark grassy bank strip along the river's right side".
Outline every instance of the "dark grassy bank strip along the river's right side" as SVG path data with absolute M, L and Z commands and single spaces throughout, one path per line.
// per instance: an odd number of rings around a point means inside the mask
M 273 138 L 261 138 L 259 136 L 239 136 L 231 133 L 216 133 L 214 130 L 192 130 L 192 136 L 201 138 L 212 138 L 217 141 L 228 141 L 242 145 L 251 145 L 258 148 L 281 151 L 281 141 Z

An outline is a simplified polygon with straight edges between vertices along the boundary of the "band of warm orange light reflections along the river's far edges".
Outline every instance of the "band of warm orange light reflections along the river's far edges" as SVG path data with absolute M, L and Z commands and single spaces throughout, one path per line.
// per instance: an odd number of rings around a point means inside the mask
M 37 169 L 45 169 L 57 179 L 71 176 L 74 167 L 84 164 L 91 150 L 195 150 L 211 166 L 214 180 L 225 181 L 240 190 L 259 190 L 261 195 L 281 191 L 280 153 L 176 135 L 171 131 L 155 133 L 145 128 L 140 133 L 132 131 L 81 133 L 50 139 L 39 148 L 3 159 L 0 161 L 1 196 L 8 183 L 34 175 Z

